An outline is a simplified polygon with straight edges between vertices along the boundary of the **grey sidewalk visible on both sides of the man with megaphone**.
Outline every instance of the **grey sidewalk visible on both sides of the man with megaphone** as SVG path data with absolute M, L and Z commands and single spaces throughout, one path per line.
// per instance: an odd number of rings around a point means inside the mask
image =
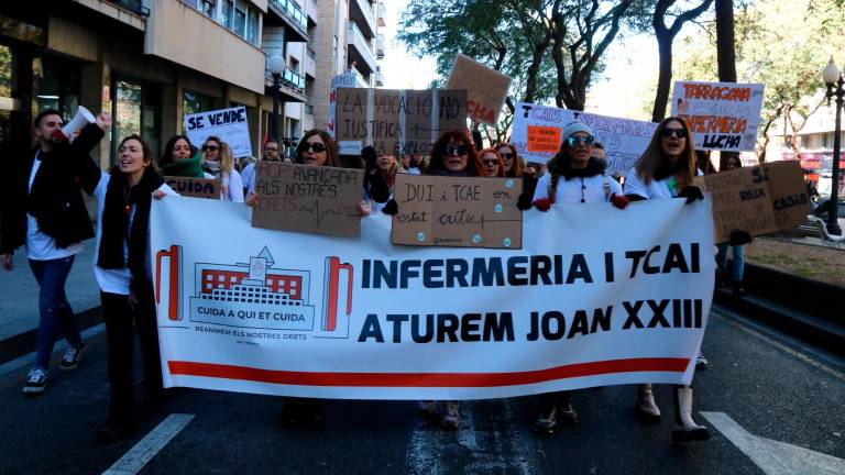
M 94 278 L 94 240 L 84 242 L 76 255 L 65 291 L 76 314 L 100 306 L 100 289 Z M 14 253 L 14 270 L 0 269 L 0 342 L 39 327 L 39 285 L 26 261 L 26 248 Z

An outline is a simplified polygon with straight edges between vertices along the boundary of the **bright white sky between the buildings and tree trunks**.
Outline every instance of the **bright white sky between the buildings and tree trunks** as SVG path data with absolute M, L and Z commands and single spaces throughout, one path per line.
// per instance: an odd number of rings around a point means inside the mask
M 407 0 L 385 1 L 385 55 L 382 59 L 386 89 L 425 89 L 437 78 L 434 57 L 417 58 L 395 40 L 399 15 Z M 685 32 L 684 32 L 685 33 Z M 683 34 L 683 33 L 682 33 Z M 650 35 L 634 35 L 614 42 L 607 49 L 607 67 L 590 90 L 591 112 L 648 120 L 638 93 L 657 80 L 657 42 Z

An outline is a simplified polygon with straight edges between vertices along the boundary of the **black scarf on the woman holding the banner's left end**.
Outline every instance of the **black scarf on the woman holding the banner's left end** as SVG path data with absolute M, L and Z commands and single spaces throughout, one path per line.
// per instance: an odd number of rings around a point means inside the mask
M 146 281 L 146 234 L 150 227 L 150 207 L 152 192 L 164 184 L 164 178 L 152 167 L 144 169 L 138 185 L 130 188 L 127 176 L 114 167 L 106 189 L 106 203 L 102 207 L 102 235 L 97 265 L 107 269 L 129 267 L 133 281 Z M 129 216 L 135 206 L 132 229 L 129 229 Z M 129 246 L 129 259 L 123 261 L 123 243 Z

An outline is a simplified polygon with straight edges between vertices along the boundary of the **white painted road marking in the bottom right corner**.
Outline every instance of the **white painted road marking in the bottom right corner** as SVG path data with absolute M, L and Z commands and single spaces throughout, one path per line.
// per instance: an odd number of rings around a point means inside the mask
M 842 475 L 845 460 L 748 433 L 724 412 L 701 412 L 767 475 Z

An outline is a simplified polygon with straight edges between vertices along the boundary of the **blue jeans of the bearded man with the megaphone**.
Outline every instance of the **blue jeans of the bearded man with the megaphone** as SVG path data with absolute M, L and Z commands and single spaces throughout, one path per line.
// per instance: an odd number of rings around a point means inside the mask
M 74 256 L 51 261 L 30 259 L 32 274 L 41 286 L 39 292 L 41 323 L 35 364 L 45 371 L 50 365 L 50 356 L 53 354 L 53 344 L 59 327 L 70 345 L 79 346 L 83 343 L 79 329 L 74 321 L 74 310 L 65 295 L 65 280 L 73 265 Z

